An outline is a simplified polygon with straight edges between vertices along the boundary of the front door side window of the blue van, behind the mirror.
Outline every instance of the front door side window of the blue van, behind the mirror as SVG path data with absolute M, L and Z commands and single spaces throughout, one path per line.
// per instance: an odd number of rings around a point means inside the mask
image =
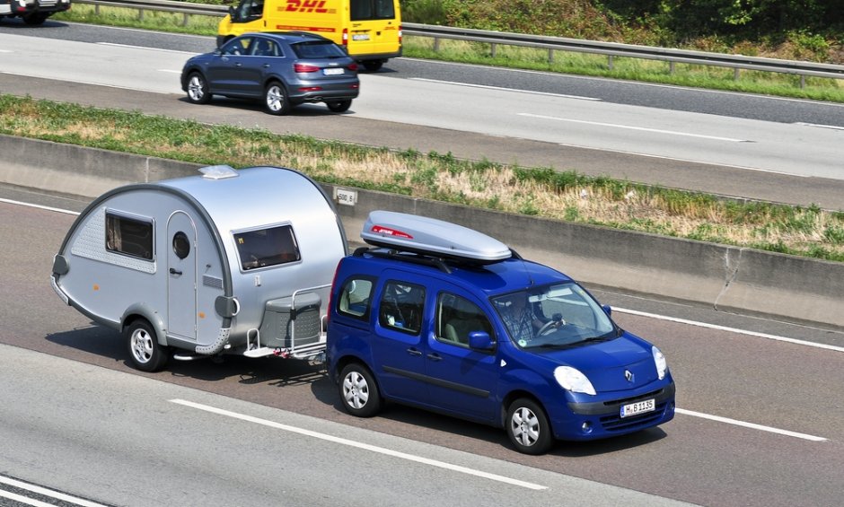
M 452 293 L 441 293 L 436 298 L 434 336 L 437 341 L 468 347 L 469 334 L 475 331 L 492 336 L 492 325 L 477 304 Z

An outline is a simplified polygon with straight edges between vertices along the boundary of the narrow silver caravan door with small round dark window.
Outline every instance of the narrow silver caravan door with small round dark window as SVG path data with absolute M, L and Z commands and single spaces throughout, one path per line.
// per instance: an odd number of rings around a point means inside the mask
M 197 226 L 177 211 L 167 222 L 167 334 L 197 339 Z

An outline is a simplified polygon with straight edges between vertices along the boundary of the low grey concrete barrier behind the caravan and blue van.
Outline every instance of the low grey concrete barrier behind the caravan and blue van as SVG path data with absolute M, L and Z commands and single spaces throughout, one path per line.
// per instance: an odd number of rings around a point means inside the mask
M 0 182 L 83 197 L 196 174 L 197 164 L 0 135 Z M 331 196 L 334 186 L 325 185 Z M 370 190 L 338 205 L 350 241 L 374 209 L 460 223 L 587 285 L 844 328 L 844 263 L 503 214 Z M 341 192 L 342 193 L 342 192 Z

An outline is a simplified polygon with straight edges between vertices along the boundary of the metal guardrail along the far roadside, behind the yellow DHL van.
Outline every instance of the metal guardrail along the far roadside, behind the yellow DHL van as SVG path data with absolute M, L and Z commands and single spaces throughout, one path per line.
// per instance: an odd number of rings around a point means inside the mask
M 76 4 L 92 4 L 99 13 L 101 5 L 113 7 L 135 8 L 141 19 L 144 11 L 165 11 L 183 13 L 183 24 L 188 23 L 190 15 L 224 16 L 228 13 L 226 5 L 192 4 L 173 0 L 73 0 Z M 610 69 L 613 67 L 613 57 L 643 58 L 660 60 L 669 63 L 673 74 L 674 64 L 692 64 L 700 66 L 720 66 L 734 69 L 734 79 L 738 80 L 740 71 L 755 70 L 780 74 L 797 74 L 800 76 L 800 87 L 805 86 L 805 78 L 825 77 L 844 79 L 844 66 L 832 64 L 818 64 L 796 60 L 779 60 L 776 58 L 745 57 L 725 53 L 707 53 L 684 49 L 655 48 L 650 46 L 634 46 L 617 42 L 601 42 L 595 40 L 567 39 L 563 37 L 549 37 L 542 35 L 526 35 L 521 33 L 507 33 L 503 31 L 472 30 L 467 28 L 453 28 L 447 26 L 401 23 L 404 35 L 431 37 L 434 39 L 434 49 L 438 50 L 440 39 L 468 40 L 490 45 L 492 56 L 496 54 L 498 45 L 522 46 L 527 48 L 541 48 L 548 50 L 549 62 L 554 60 L 555 51 L 569 51 L 576 53 L 591 53 L 605 55 Z

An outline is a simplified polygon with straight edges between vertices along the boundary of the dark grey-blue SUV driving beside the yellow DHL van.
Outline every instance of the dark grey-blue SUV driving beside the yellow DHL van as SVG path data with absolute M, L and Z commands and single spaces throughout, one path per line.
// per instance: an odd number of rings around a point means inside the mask
M 329 39 L 305 32 L 244 33 L 212 53 L 190 58 L 181 71 L 188 100 L 213 95 L 260 99 L 267 112 L 284 115 L 304 102 L 346 111 L 357 97 L 357 64 Z

